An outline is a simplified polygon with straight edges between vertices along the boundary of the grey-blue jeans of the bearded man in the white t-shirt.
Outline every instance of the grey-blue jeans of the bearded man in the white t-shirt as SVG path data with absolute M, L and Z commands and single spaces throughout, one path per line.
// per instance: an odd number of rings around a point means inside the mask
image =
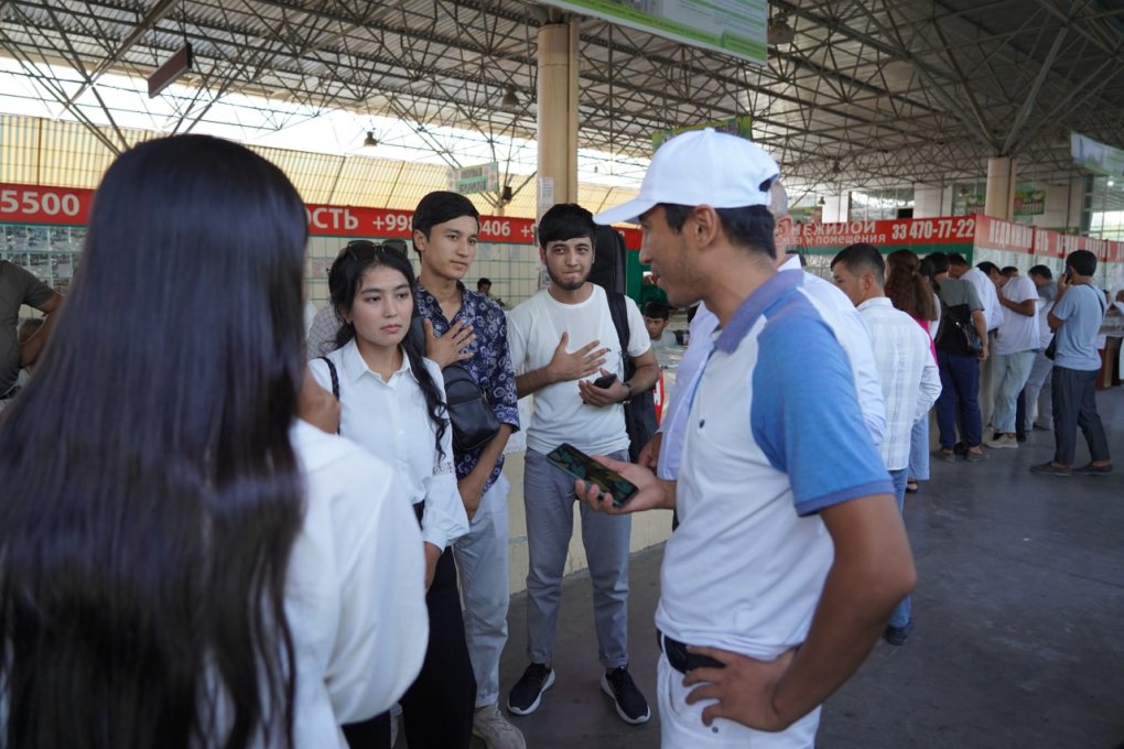
M 608 457 L 627 460 L 628 450 Z M 527 511 L 527 657 L 554 659 L 562 575 L 573 535 L 573 478 L 527 449 L 523 468 L 523 503 Z M 593 584 L 593 625 L 598 658 L 605 668 L 628 664 L 628 542 L 632 518 L 581 506 L 581 542 Z

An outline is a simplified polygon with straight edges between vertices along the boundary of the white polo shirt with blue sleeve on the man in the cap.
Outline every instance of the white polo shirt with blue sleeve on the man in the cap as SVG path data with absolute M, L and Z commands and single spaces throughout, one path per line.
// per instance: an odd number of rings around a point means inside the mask
M 846 356 L 778 273 L 737 310 L 695 389 L 656 627 L 772 659 L 805 640 L 832 566 L 819 510 L 894 486 Z

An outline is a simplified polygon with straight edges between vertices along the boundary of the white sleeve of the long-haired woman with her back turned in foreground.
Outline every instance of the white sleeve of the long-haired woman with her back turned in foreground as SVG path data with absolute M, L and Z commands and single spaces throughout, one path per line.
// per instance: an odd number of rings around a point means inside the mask
M 342 504 L 371 514 L 360 532 L 360 518 L 332 521 L 344 542 L 336 545 L 341 611 L 324 682 L 341 723 L 389 710 L 417 678 L 429 639 L 417 518 L 395 495 L 389 466 L 368 455 L 350 463 L 362 469 L 339 476 L 342 491 L 355 495 Z

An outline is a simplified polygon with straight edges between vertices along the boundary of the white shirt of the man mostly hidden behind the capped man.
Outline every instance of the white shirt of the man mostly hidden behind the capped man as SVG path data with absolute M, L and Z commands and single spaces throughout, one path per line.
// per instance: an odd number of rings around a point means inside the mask
M 815 273 L 805 273 L 800 267 L 799 256 L 794 255 L 788 258 L 780 270 L 804 273 L 801 290 L 843 347 L 854 376 L 854 389 L 859 393 L 863 423 L 867 424 L 874 445 L 880 445 L 886 436 L 886 405 L 882 403 L 882 383 L 878 381 L 878 367 L 870 347 L 870 330 L 867 329 L 867 323 L 839 286 Z

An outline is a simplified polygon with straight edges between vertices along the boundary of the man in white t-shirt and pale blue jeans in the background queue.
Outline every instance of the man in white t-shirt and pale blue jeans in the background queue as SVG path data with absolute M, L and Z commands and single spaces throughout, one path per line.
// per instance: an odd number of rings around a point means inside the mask
M 1004 308 L 1003 322 L 995 334 L 995 409 L 991 426 L 995 433 L 985 442 L 992 448 L 1017 448 L 1015 418 L 1018 394 L 1026 385 L 1039 349 L 1039 290 L 1024 275 L 1007 277 L 992 263 L 980 263 L 998 292 Z

